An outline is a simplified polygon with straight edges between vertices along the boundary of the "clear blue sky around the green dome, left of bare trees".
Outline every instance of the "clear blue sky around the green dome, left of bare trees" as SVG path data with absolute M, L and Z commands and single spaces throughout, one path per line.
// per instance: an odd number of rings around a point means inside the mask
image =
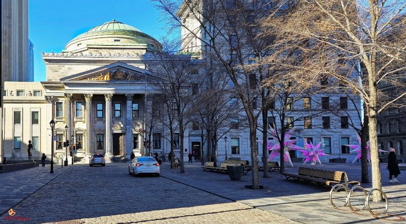
M 61 52 L 71 39 L 104 22 L 124 22 L 157 40 L 166 35 L 165 22 L 149 0 L 29 0 L 28 17 L 34 81 L 45 81 L 42 51 Z

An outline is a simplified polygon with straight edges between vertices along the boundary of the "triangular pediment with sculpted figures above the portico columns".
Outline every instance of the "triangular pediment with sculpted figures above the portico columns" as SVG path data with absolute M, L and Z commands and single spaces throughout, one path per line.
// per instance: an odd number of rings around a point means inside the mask
M 130 66 L 122 62 L 116 62 L 110 65 L 94 68 L 88 71 L 80 72 L 68 77 L 62 78 L 61 82 L 66 81 L 144 81 L 145 74 L 148 71 L 139 67 Z M 150 75 L 148 75 L 150 76 Z M 151 77 L 149 77 L 151 78 Z

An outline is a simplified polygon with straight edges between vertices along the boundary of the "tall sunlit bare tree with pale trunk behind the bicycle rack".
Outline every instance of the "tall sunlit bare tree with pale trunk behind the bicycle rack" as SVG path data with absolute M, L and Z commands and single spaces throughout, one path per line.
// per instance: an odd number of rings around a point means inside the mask
M 368 118 L 372 185 L 378 189 L 382 184 L 377 116 L 406 96 L 405 7 L 404 0 L 285 0 L 263 22 L 275 37 L 270 65 L 284 65 L 312 81 L 314 77 L 337 79 L 361 96 Z M 278 60 L 286 50 L 303 43 L 299 64 Z M 358 60 L 364 67 L 361 82 L 337 66 L 347 60 Z M 383 94 L 383 86 L 395 91 Z M 382 195 L 374 192 L 373 200 L 381 201 Z

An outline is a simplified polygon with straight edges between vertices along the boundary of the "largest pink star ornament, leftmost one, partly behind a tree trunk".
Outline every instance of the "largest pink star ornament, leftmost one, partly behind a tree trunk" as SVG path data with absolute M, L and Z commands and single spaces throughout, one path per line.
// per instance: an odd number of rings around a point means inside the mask
M 274 129 L 270 128 L 269 130 L 273 136 L 277 136 L 276 131 Z M 284 150 L 285 152 L 283 153 L 283 158 L 286 162 L 291 164 L 292 167 L 293 167 L 293 163 L 292 163 L 291 155 L 289 154 L 289 150 L 303 149 L 302 147 L 293 144 L 297 141 L 296 139 L 291 139 L 293 132 L 294 132 L 294 128 L 289 130 L 287 133 L 285 133 L 285 142 L 283 143 L 283 145 L 285 146 L 285 150 Z M 262 141 L 258 141 L 258 142 L 262 142 Z M 269 162 L 274 157 L 279 155 L 279 153 L 280 153 L 279 142 L 278 141 L 273 141 L 273 143 L 268 142 L 268 150 L 272 151 L 267 160 Z

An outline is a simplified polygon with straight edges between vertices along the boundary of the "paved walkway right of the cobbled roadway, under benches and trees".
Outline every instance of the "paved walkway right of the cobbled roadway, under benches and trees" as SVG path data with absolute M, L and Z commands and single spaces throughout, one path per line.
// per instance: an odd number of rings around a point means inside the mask
M 295 167 L 286 168 L 286 172 L 297 173 L 300 165 L 294 164 Z M 394 215 L 385 219 L 375 219 L 368 211 L 352 213 L 349 208 L 343 208 L 344 211 L 334 209 L 329 200 L 331 188 L 326 186 L 320 188 L 313 183 L 286 180 L 283 175 L 272 172 L 271 178 L 262 178 L 263 173 L 259 172 L 260 184 L 264 185 L 265 189 L 251 190 L 245 188 L 245 185 L 251 184 L 251 172 L 236 181 L 230 180 L 224 173 L 203 171 L 200 166 L 200 163 L 186 164 L 186 173 L 182 174 L 179 170 L 171 170 L 168 164 L 164 164 L 161 166 L 161 176 L 302 223 L 391 223 L 404 221 L 406 217 L 406 178 L 400 175 L 399 183 L 389 185 L 385 164 L 381 165 L 383 191 L 389 198 L 388 213 Z M 361 179 L 360 165 L 332 164 L 318 165 L 316 168 L 345 171 L 350 180 Z M 367 190 L 371 188 L 371 184 L 361 186 Z

